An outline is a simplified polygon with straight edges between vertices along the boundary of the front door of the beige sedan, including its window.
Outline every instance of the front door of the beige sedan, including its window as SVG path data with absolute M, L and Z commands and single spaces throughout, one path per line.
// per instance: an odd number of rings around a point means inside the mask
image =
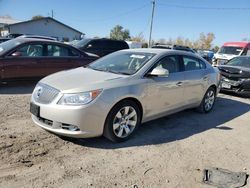
M 166 111 L 177 110 L 183 105 L 184 74 L 180 57 L 166 56 L 158 61 L 153 68 L 160 66 L 169 71 L 168 77 L 148 77 L 146 96 L 146 115 L 156 116 Z M 150 72 L 149 71 L 149 72 Z

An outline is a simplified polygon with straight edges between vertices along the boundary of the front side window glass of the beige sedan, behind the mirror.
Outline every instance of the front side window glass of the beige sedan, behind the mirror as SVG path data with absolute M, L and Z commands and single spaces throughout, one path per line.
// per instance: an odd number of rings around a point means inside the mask
M 169 73 L 180 72 L 180 62 L 178 56 L 166 56 L 162 58 L 155 67 L 167 69 Z

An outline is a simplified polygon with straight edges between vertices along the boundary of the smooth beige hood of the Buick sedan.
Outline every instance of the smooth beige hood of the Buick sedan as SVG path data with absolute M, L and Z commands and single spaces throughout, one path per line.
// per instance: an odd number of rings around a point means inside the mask
M 61 71 L 43 78 L 40 82 L 60 90 L 62 93 L 77 93 L 95 89 L 106 89 L 117 82 L 126 82 L 127 75 L 76 68 Z

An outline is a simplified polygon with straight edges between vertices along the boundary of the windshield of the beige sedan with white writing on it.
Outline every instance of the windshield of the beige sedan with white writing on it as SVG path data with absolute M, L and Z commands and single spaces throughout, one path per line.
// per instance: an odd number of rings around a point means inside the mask
M 95 61 L 88 67 L 98 71 L 132 75 L 154 55 L 142 52 L 116 52 Z

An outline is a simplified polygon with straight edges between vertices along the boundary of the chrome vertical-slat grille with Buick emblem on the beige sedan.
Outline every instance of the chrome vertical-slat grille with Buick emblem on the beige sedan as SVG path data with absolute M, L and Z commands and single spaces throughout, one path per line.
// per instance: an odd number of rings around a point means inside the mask
M 37 84 L 33 92 L 33 98 L 36 102 L 42 104 L 51 103 L 58 95 L 59 90 L 45 84 Z

